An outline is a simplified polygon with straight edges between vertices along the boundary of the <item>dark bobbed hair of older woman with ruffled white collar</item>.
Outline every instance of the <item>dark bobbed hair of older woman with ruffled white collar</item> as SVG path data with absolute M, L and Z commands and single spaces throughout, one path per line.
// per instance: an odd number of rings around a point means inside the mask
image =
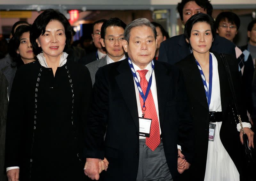
M 60 23 L 65 28 L 65 35 L 66 35 L 66 45 L 65 49 L 68 48 L 68 45 L 71 41 L 71 33 L 72 33 L 72 27 L 70 26 L 68 19 L 60 13 L 60 11 L 48 9 L 42 12 L 34 21 L 32 25 L 32 30 L 30 33 L 30 41 L 33 46 L 34 54 L 37 55 L 40 52 L 42 52 L 42 48 L 38 47 L 36 43 L 36 39 L 45 33 L 45 28 L 48 25 L 48 23 L 52 20 L 60 21 Z

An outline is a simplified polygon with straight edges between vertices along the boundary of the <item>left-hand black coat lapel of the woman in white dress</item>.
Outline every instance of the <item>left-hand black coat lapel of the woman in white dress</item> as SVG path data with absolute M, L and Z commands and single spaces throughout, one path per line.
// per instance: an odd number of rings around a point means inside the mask
M 189 94 L 192 94 L 192 97 L 194 97 L 197 102 L 203 105 L 205 109 L 209 110 L 204 90 L 204 83 L 193 54 L 190 54 L 190 56 L 186 59 L 186 64 L 188 66 L 186 66 L 186 72 L 184 74 L 188 75 L 184 76 L 188 77 L 188 86 L 193 87 Z

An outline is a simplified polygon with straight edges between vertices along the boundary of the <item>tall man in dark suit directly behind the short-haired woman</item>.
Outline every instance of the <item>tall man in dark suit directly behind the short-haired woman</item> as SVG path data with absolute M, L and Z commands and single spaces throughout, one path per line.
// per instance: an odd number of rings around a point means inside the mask
M 212 4 L 208 0 L 182 0 L 177 5 L 180 19 L 185 25 L 187 20 L 196 13 L 207 13 L 212 16 Z M 231 54 L 236 57 L 236 45 L 227 39 L 215 36 L 211 50 L 217 53 Z M 158 60 L 174 64 L 192 53 L 184 34 L 171 37 L 161 43 Z

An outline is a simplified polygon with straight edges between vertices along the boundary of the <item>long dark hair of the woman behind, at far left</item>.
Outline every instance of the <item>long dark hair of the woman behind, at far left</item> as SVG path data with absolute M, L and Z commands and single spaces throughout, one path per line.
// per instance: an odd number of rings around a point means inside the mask
M 9 41 L 9 54 L 14 62 L 17 64 L 23 64 L 21 57 L 17 54 L 17 50 L 20 47 L 20 38 L 23 33 L 31 32 L 30 25 L 20 25 L 17 27 L 15 33 L 13 34 L 11 40 Z

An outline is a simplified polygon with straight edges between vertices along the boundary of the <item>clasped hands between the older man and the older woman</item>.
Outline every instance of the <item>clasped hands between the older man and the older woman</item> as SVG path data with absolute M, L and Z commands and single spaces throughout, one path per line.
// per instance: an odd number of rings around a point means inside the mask
M 99 180 L 100 173 L 108 169 L 108 160 L 104 158 L 101 160 L 99 158 L 86 158 L 86 163 L 84 165 L 84 174 L 91 178 L 92 180 Z

